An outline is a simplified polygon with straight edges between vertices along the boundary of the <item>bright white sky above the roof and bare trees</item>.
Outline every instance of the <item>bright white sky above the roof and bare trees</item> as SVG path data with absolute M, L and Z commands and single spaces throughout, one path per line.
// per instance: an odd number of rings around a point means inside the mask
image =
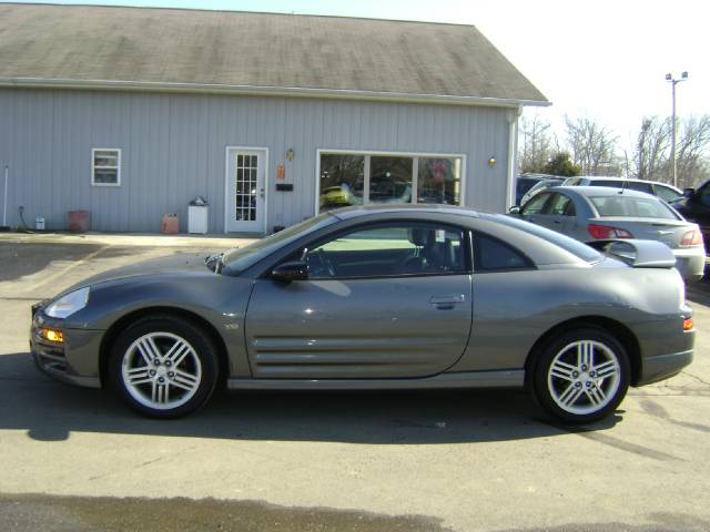
M 630 141 L 643 115 L 710 112 L 707 0 L 144 0 L 65 3 L 170 6 L 469 23 L 554 103 L 541 116 L 587 114 Z M 527 113 L 535 112 L 528 110 Z

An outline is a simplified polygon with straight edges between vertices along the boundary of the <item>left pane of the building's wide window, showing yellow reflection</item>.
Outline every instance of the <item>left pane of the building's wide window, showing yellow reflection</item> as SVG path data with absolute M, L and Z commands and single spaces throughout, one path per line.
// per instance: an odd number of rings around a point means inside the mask
M 363 204 L 364 155 L 321 155 L 320 211 Z

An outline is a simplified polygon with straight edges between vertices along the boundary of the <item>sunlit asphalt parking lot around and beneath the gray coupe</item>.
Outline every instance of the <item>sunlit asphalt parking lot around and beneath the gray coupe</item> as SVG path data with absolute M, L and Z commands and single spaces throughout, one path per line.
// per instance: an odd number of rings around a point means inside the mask
M 575 430 L 518 391 L 222 392 L 152 421 L 32 366 L 32 303 L 227 244 L 0 237 L 1 530 L 710 530 L 706 285 L 694 362 Z

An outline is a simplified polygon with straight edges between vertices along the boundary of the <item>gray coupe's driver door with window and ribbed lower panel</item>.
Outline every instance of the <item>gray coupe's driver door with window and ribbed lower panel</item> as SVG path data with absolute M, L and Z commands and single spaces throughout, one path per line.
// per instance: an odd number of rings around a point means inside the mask
M 246 313 L 255 378 L 425 377 L 463 355 L 467 233 L 435 223 L 352 228 L 313 243 L 306 280 L 260 278 Z M 291 257 L 298 258 L 298 257 Z

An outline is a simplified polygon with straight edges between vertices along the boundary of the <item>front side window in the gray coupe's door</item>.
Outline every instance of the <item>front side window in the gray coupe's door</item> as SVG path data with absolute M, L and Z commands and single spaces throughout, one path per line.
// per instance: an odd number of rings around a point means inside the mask
M 467 272 L 464 231 L 436 224 L 356 229 L 308 249 L 305 260 L 312 279 Z

